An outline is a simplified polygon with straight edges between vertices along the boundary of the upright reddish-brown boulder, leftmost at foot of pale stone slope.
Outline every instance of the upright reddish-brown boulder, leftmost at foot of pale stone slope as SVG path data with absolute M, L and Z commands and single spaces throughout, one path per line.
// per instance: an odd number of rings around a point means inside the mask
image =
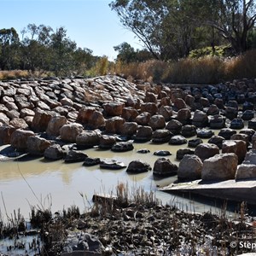
M 49 120 L 52 118 L 53 113 L 47 110 L 37 108 L 32 120 L 32 129 L 34 131 L 46 131 Z

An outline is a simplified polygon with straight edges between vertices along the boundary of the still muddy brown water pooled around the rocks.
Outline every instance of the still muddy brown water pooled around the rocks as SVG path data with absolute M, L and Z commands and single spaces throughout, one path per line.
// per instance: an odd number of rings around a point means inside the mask
M 218 134 L 218 131 L 214 131 Z M 189 137 L 192 139 L 195 137 Z M 205 140 L 207 142 L 207 140 Z M 131 160 L 143 160 L 154 167 L 154 161 L 159 156 L 154 155 L 156 150 L 169 150 L 172 155 L 167 156 L 178 165 L 176 152 L 186 145 L 172 146 L 168 143 L 134 143 L 134 149 L 125 153 L 114 153 L 110 150 L 90 148 L 84 153 L 90 157 L 120 160 L 129 165 Z M 147 148 L 148 154 L 137 153 L 138 149 Z M 92 195 L 95 193 L 115 193 L 118 183 L 128 183 L 130 192 L 138 187 L 146 191 L 153 190 L 155 195 L 164 204 L 172 203 L 189 212 L 219 212 L 222 202 L 211 199 L 201 199 L 192 195 L 172 195 L 158 191 L 157 187 L 166 186 L 177 179 L 177 176 L 154 179 L 153 172 L 144 172 L 137 175 L 126 173 L 126 168 L 113 171 L 101 169 L 99 166 L 85 167 L 82 163 L 65 164 L 63 160 L 46 162 L 44 158 L 26 161 L 0 162 L 0 210 L 2 216 L 14 210 L 26 218 L 32 206 L 51 208 L 53 212 L 76 205 L 80 210 L 90 207 Z M 83 195 L 83 197 L 82 197 Z M 231 209 L 233 212 L 233 209 Z

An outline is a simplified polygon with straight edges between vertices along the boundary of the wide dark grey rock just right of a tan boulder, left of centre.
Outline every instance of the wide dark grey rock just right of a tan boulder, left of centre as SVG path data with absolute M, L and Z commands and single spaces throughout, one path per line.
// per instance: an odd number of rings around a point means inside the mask
M 76 137 L 76 143 L 78 146 L 91 148 L 99 145 L 101 133 L 98 131 L 83 131 Z

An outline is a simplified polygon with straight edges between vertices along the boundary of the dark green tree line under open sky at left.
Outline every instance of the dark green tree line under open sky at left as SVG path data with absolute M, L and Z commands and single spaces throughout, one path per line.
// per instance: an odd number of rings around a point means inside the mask
M 0 70 L 51 71 L 56 76 L 90 69 L 99 60 L 92 50 L 80 48 L 61 26 L 29 24 L 21 32 L 0 29 Z

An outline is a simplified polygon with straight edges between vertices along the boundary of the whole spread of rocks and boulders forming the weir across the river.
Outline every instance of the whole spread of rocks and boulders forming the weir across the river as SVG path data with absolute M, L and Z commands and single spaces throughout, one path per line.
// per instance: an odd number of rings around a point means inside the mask
M 241 178 L 248 175 L 236 175 L 236 168 L 252 148 L 255 103 L 253 79 L 180 88 L 134 84 L 110 75 L 0 82 L 0 145 L 10 144 L 16 151 L 70 162 L 88 158 L 76 152 L 80 148 L 133 150 L 130 139 L 188 144 L 195 150 L 178 150 L 177 159 L 182 160 L 178 168 L 167 158 L 160 158 L 154 163 L 154 174 L 178 173 L 180 178 L 206 180 Z M 220 132 L 214 135 L 211 129 Z M 237 130 L 241 131 L 237 134 Z M 209 138 L 208 143 L 202 143 L 201 138 Z M 89 162 L 99 164 L 98 160 Z M 216 165 L 218 172 L 212 167 Z M 239 168 L 251 170 L 252 166 L 243 163 Z M 128 172 L 136 169 L 150 170 L 136 162 Z

